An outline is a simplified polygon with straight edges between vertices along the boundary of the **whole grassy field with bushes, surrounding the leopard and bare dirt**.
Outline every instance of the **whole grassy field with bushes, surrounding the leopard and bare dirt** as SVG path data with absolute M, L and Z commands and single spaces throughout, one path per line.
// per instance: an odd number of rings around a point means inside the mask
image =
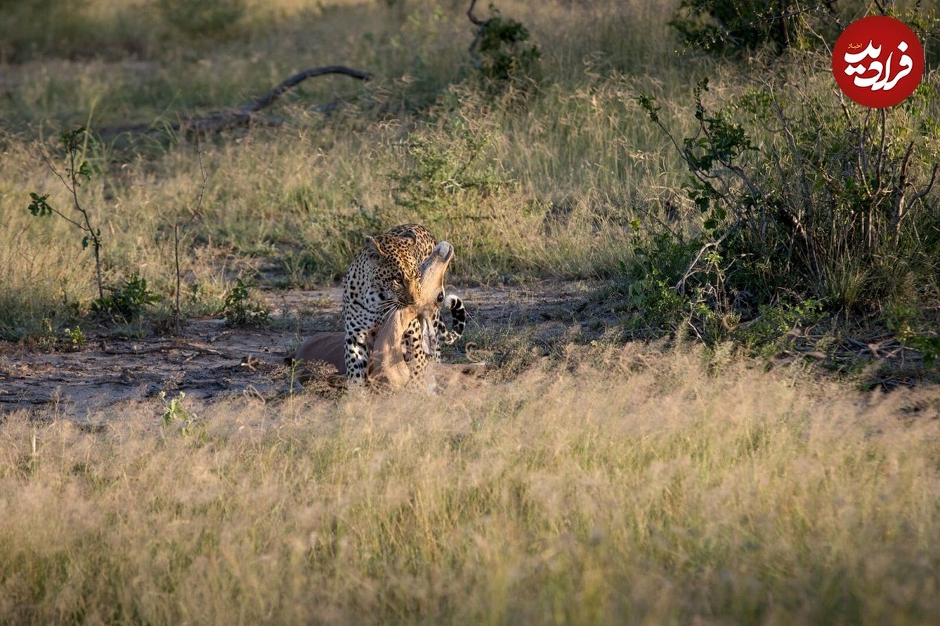
M 0 403 L 0 623 L 935 621 L 936 8 L 887 3 L 927 71 L 882 115 L 829 67 L 865 2 L 716 55 L 678 0 L 499 0 L 531 35 L 509 76 L 468 4 L 0 0 L 0 393 L 55 399 L 115 346 L 102 393 L 168 372 L 163 400 Z M 372 78 L 184 128 L 335 64 Z M 458 291 L 527 294 L 489 326 L 468 299 L 478 386 L 203 401 L 134 356 L 333 289 L 413 221 Z

